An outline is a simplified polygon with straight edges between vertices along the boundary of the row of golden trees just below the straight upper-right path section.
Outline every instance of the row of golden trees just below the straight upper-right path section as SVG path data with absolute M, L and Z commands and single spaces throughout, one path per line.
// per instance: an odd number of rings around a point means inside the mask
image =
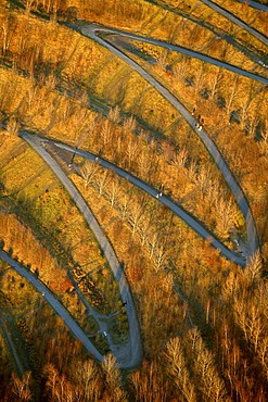
M 137 46 L 142 47 L 148 54 L 155 54 L 156 49 L 157 68 L 162 71 L 162 75 L 167 72 L 169 79 L 173 78 L 173 88 L 176 88 L 178 81 L 192 86 L 195 96 L 210 99 L 221 109 L 220 114 L 227 123 L 239 123 L 253 139 L 264 138 L 267 127 L 265 85 L 237 75 L 232 85 L 227 86 L 226 83 L 232 77 L 230 72 L 187 55 L 168 54 L 166 50 L 159 50 L 157 47 L 144 47 L 142 43 Z M 225 45 L 220 50 L 222 55 L 228 54 L 233 61 Z M 218 56 L 225 60 L 225 56 Z M 242 63 L 245 64 L 245 58 L 242 58 Z

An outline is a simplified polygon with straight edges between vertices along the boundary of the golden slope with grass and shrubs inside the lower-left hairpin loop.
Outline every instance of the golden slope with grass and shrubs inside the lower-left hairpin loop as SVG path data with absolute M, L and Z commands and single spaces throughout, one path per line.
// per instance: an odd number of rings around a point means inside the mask
M 26 228 L 13 215 L 1 214 L 1 238 L 4 239 L 5 250 L 10 252 L 12 250 L 13 255 L 27 264 L 27 267 L 55 293 L 63 297 L 64 304 L 72 309 L 78 322 L 84 323 L 82 314 L 87 306 L 84 306 L 77 298 L 76 284 L 97 310 L 105 314 L 114 313 L 118 304 L 120 305 L 118 288 L 109 266 L 106 267 L 107 264 L 101 250 L 95 244 L 94 237 L 76 208 L 69 202 L 68 196 L 56 186 L 55 178 L 51 174 L 47 183 L 46 176 L 43 177 L 42 187 L 43 185 L 47 187 L 40 191 L 38 186 L 40 168 L 38 169 L 37 166 L 41 161 L 34 158 L 29 160 L 28 152 L 36 155 L 29 149 L 24 155 L 26 163 L 24 164 L 25 169 L 21 169 L 21 179 L 24 179 L 24 185 L 27 184 L 27 186 L 24 186 L 23 196 L 21 191 L 12 187 L 15 183 L 12 173 L 16 172 L 13 165 L 20 163 L 20 158 L 5 165 L 7 171 L 3 171 L 3 181 L 7 186 L 3 205 L 5 204 L 10 212 L 16 212 L 21 221 L 27 224 Z M 30 161 L 29 165 L 27 161 Z M 37 180 L 35 171 L 39 172 Z M 5 177 L 7 172 L 9 175 Z M 51 181 L 55 187 L 51 188 Z M 31 197 L 33 183 L 36 192 L 38 190 L 38 197 L 34 200 Z M 33 235 L 39 241 L 33 238 Z M 76 274 L 73 280 L 71 279 L 72 272 Z M 10 274 L 8 274 L 8 282 L 10 284 Z M 27 298 L 27 294 L 24 297 Z M 125 319 L 123 311 L 115 322 L 118 319 Z M 88 325 L 87 321 L 86 325 Z M 125 326 L 125 336 L 126 331 Z M 116 334 L 114 336 L 116 337 Z

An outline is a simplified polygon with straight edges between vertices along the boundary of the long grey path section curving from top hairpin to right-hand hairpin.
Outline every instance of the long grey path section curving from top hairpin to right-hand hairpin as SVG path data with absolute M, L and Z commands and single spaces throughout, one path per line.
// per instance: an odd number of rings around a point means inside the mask
M 183 116 L 183 118 L 188 122 L 190 127 L 195 131 L 195 134 L 199 135 L 202 142 L 205 145 L 206 149 L 213 156 L 215 163 L 217 164 L 218 168 L 224 175 L 224 178 L 226 183 L 228 184 L 229 188 L 231 189 L 238 205 L 240 206 L 241 212 L 244 215 L 245 218 L 245 225 L 246 225 L 246 233 L 247 233 L 247 243 L 248 243 L 248 250 L 247 250 L 247 257 L 250 257 L 252 254 L 254 254 L 258 250 L 258 236 L 257 230 L 254 222 L 253 214 L 251 212 L 251 208 L 247 203 L 247 200 L 237 183 L 232 172 L 230 171 L 228 164 L 226 163 L 224 156 L 221 155 L 220 151 L 216 147 L 215 142 L 210 139 L 208 134 L 205 131 L 204 128 L 196 129 L 196 121 L 191 115 L 191 113 L 187 110 L 187 108 L 174 96 L 171 95 L 159 81 L 157 81 L 155 78 L 153 78 L 144 68 L 142 68 L 138 63 L 136 63 L 133 60 L 131 60 L 129 56 L 127 56 L 125 53 L 123 53 L 119 49 L 117 49 L 115 46 L 106 42 L 104 39 L 100 38 L 98 36 L 99 32 L 102 32 L 101 27 L 98 27 L 92 24 L 88 24 L 86 27 L 78 28 L 78 30 L 81 32 L 82 35 L 88 36 L 89 38 L 93 39 L 98 43 L 102 45 L 110 51 L 112 51 L 114 54 L 118 55 L 122 60 L 124 60 L 126 63 L 128 63 L 130 66 L 132 66 L 139 74 L 142 75 L 144 79 L 146 79 L 165 99 L 167 99 L 168 102 L 170 102 L 177 111 Z M 118 30 L 104 28 L 104 32 L 115 32 L 117 35 Z M 128 36 L 128 34 L 124 33 L 124 36 Z M 135 36 L 136 37 L 136 36 Z M 138 37 L 138 36 L 137 36 Z

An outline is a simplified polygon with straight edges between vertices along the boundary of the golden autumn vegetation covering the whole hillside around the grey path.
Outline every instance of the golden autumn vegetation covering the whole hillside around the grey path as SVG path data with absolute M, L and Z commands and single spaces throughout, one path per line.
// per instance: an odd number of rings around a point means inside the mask
M 266 34 L 265 13 L 215 2 Z M 89 357 L 42 296 L 0 261 L 0 317 L 13 317 L 10 331 L 26 346 L 21 350 L 29 365 L 23 376 L 16 373 L 1 331 L 0 400 L 265 402 L 267 87 L 156 46 L 106 37 L 200 115 L 224 154 L 259 235 L 259 253 L 245 271 L 114 172 L 46 146 L 94 213 L 130 284 L 143 361 L 120 372 L 90 314 L 93 309 L 105 321 L 116 348 L 126 344 L 118 285 L 75 204 L 18 138 L 20 130 L 107 159 L 181 203 L 230 249 L 237 250 L 237 236 L 246 241 L 245 224 L 180 114 L 129 65 L 64 26 L 76 18 L 184 46 L 267 76 L 244 53 L 265 58 L 266 47 L 201 1 L 1 2 L 0 246 L 53 292 L 105 359 L 97 364 Z

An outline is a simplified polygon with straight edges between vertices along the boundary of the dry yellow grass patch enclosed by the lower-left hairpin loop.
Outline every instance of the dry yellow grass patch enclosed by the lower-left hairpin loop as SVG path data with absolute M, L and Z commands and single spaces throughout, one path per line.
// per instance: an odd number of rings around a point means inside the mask
M 17 140 L 21 141 L 20 139 Z M 16 141 L 13 142 L 14 147 Z M 2 150 L 3 147 L 1 147 L 0 151 Z M 12 148 L 10 152 L 12 152 Z M 43 167 L 46 175 L 40 177 L 37 173 L 40 173 Z M 10 194 L 18 205 L 22 205 L 24 214 L 28 214 L 28 223 L 33 225 L 33 233 L 39 238 L 39 241 L 30 241 L 34 235 L 30 230 L 25 231 L 22 224 L 20 225 L 17 223 L 16 225 L 20 227 L 14 228 L 16 223 L 14 219 L 10 224 L 13 227 L 13 235 L 12 233 L 7 235 L 3 230 L 1 237 L 7 241 L 8 249 L 11 246 L 13 247 L 14 243 L 14 252 L 26 264 L 29 263 L 33 266 L 34 264 L 38 266 L 40 278 L 47 282 L 49 281 L 52 290 L 60 290 L 61 293 L 64 293 L 66 287 L 67 289 L 72 287 L 67 278 L 66 267 L 72 268 L 74 262 L 76 262 L 77 264 L 87 266 L 84 268 L 85 274 L 87 274 L 97 266 L 105 267 L 106 262 L 101 255 L 101 250 L 93 235 L 88 229 L 84 218 L 71 202 L 66 192 L 59 185 L 55 188 L 44 191 L 46 188 L 50 188 L 51 184 L 55 181 L 51 172 L 47 169 L 48 167 L 42 160 L 30 148 L 27 148 L 25 153 L 20 154 L 16 159 L 11 160 L 4 165 L 2 180 L 5 187 L 5 193 Z M 41 189 L 39 187 L 40 185 Z M 37 193 L 39 193 L 39 197 L 31 201 L 33 197 L 36 197 Z M 26 233 L 26 239 L 22 241 L 24 233 Z M 17 241 L 17 246 L 15 240 Z M 25 242 L 30 243 L 30 247 L 22 248 L 22 244 L 25 246 Z M 42 247 L 40 243 L 42 243 Z M 61 265 L 65 261 L 65 264 L 62 265 L 65 268 L 62 274 L 54 269 L 51 262 L 47 262 L 50 257 L 43 246 L 49 247 L 51 254 L 55 261 L 61 262 Z M 64 250 L 66 256 L 64 259 L 64 254 L 62 254 L 60 259 L 60 254 Z M 27 252 L 29 256 L 27 256 Z M 40 261 L 38 260 L 38 255 L 40 255 Z M 97 293 L 103 293 L 104 298 L 106 297 L 106 291 L 109 292 L 106 288 L 107 284 L 113 284 L 112 274 L 109 269 L 105 272 L 106 280 L 100 280 L 100 277 L 94 280 L 93 285 Z M 61 285 L 56 280 L 59 277 L 61 278 Z M 92 297 L 95 298 L 93 293 Z M 111 299 L 107 297 L 107 300 L 110 300 L 109 304 L 111 303 L 110 309 L 113 310 L 113 303 L 116 304 L 119 300 L 118 289 L 114 289 L 113 297 Z

